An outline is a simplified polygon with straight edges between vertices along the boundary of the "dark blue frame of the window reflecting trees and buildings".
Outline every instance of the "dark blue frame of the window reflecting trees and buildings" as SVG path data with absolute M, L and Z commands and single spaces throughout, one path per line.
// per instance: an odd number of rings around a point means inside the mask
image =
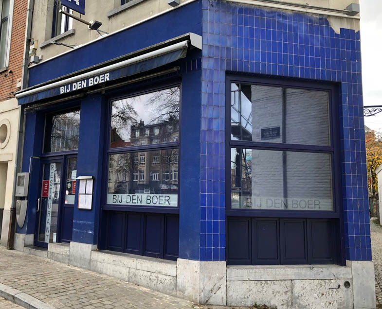
M 126 154 L 126 153 L 136 153 L 143 151 L 154 151 L 154 150 L 167 150 L 180 148 L 181 141 L 181 125 L 179 125 L 179 139 L 176 142 L 166 142 L 166 143 L 158 143 L 158 144 L 148 144 L 148 145 L 137 145 L 137 146 L 127 146 L 127 147 L 118 147 L 118 148 L 110 148 L 110 136 L 111 136 L 111 103 L 116 100 L 131 98 L 147 93 L 152 93 L 159 90 L 168 89 L 171 87 L 179 86 L 180 87 L 180 104 L 179 104 L 179 123 L 182 123 L 182 83 L 177 80 L 174 82 L 161 83 L 158 86 L 146 86 L 144 89 L 142 87 L 137 87 L 138 90 L 132 90 L 124 95 L 112 96 L 108 99 L 108 112 L 107 112 L 107 121 L 106 121 L 106 152 L 104 158 L 104 179 L 102 186 L 103 188 L 107 188 L 108 186 L 108 178 L 109 178 L 109 155 L 110 154 Z M 178 177 L 181 175 L 181 155 L 178 153 Z M 179 178 L 178 178 L 179 179 Z M 107 189 L 105 190 L 105 192 Z M 128 205 L 111 205 L 107 204 L 107 193 L 103 194 L 103 210 L 114 210 L 114 211 L 136 211 L 136 212 L 158 212 L 158 213 L 167 213 L 167 214 L 179 214 L 179 201 L 181 195 L 181 188 L 178 187 L 178 206 L 177 207 L 169 207 L 169 206 L 128 206 Z

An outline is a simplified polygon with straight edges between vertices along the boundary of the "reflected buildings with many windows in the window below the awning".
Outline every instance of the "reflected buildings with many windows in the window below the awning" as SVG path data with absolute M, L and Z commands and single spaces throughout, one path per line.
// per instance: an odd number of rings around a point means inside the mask
M 176 117 L 149 125 L 141 120 L 138 125 L 131 126 L 128 146 L 178 140 L 179 120 Z M 109 193 L 177 194 L 178 149 L 140 151 L 118 156 L 125 158 L 117 159 L 117 167 L 109 170 Z M 126 160 L 130 162 L 124 162 Z

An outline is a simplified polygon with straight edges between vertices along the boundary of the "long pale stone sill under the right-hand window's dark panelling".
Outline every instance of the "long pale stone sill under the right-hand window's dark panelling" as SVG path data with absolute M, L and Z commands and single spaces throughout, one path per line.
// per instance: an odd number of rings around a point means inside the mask
M 227 266 L 227 281 L 351 279 L 350 267 L 339 265 Z

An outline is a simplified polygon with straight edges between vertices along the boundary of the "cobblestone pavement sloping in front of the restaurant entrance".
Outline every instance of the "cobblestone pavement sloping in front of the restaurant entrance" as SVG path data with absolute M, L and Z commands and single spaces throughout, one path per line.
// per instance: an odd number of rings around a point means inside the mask
M 57 309 L 232 308 L 196 305 L 107 275 L 2 248 L 0 282 Z M 0 301 L 0 308 L 20 308 L 1 305 Z

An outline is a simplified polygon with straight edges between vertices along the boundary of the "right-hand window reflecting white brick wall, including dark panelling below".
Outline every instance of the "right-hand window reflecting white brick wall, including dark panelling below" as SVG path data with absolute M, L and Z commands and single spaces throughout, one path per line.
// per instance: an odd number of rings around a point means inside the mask
M 230 86 L 227 262 L 338 261 L 330 87 Z

